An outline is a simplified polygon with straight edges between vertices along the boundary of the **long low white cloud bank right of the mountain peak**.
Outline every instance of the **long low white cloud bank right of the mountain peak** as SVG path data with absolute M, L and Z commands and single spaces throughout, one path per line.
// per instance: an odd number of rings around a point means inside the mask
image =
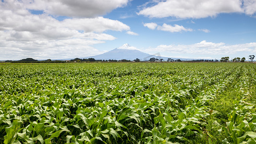
M 212 43 L 203 40 L 200 43 L 192 45 L 159 45 L 156 48 L 148 49 L 148 52 L 150 51 L 170 52 L 178 54 L 230 55 L 240 52 L 256 52 L 256 43 L 227 45 L 225 43 Z

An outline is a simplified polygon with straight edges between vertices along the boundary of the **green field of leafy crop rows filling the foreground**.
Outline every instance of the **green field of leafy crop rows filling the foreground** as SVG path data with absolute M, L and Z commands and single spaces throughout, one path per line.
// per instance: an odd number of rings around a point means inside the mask
M 0 64 L 0 144 L 256 143 L 256 64 Z

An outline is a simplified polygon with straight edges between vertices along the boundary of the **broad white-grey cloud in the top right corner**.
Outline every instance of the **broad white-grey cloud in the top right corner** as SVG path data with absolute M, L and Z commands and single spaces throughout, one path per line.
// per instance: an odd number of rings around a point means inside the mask
M 156 5 L 144 7 L 138 15 L 148 17 L 205 18 L 219 13 L 256 12 L 256 0 L 159 0 Z

